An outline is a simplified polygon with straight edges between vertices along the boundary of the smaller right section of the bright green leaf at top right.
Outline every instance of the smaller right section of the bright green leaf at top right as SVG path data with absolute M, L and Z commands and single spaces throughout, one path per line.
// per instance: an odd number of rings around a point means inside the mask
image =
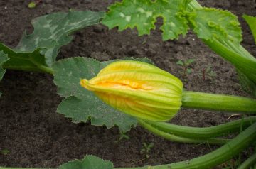
M 204 40 L 228 39 L 234 43 L 242 41 L 242 30 L 238 18 L 229 11 L 203 8 L 190 13 L 189 20 L 198 38 Z

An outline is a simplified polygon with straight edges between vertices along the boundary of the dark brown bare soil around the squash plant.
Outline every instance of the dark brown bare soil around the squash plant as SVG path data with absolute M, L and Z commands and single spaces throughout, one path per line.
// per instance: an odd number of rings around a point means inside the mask
M 31 19 L 54 11 L 68 9 L 106 11 L 113 1 L 43 0 L 35 9 L 28 9 L 30 1 L 0 0 L 0 41 L 14 47 L 25 29 L 31 32 Z M 256 55 L 253 38 L 242 21 L 242 14 L 256 16 L 255 0 L 208 0 L 203 5 L 228 9 L 237 14 L 244 30 L 243 45 Z M 161 21 L 159 21 L 161 23 Z M 153 31 L 151 36 L 137 37 L 136 31 L 107 31 L 105 26 L 92 26 L 75 33 L 75 40 L 62 48 L 58 58 L 74 56 L 110 60 L 123 57 L 147 57 L 157 66 L 180 77 L 185 88 L 193 91 L 221 94 L 246 95 L 238 84 L 237 74 L 232 66 L 215 55 L 196 36 L 189 33 L 186 38 L 161 41 L 161 32 Z M 193 72 L 185 81 L 178 60 L 196 58 Z M 208 65 L 213 67 L 217 77 L 203 80 L 201 72 Z M 129 140 L 119 138 L 117 127 L 73 124 L 57 114 L 61 98 L 56 94 L 53 77 L 35 72 L 7 70 L 0 83 L 3 95 L 0 99 L 0 149 L 11 153 L 0 154 L 1 166 L 57 168 L 58 165 L 86 154 L 111 160 L 114 166 L 141 166 L 173 163 L 201 156 L 212 151 L 205 145 L 174 143 L 154 136 L 137 126 L 127 133 Z M 223 124 L 230 114 L 182 109 L 171 122 L 186 126 L 212 126 Z M 143 160 L 140 153 L 142 143 L 154 143 L 149 159 Z M 216 147 L 212 147 L 214 149 Z

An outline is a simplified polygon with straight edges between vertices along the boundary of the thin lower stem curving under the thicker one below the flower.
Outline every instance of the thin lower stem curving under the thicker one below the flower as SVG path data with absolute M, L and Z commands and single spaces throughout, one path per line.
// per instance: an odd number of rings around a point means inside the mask
M 227 143 L 228 139 L 222 139 L 222 138 L 210 138 L 210 139 L 196 139 L 196 138 L 187 138 L 182 136 L 176 136 L 171 133 L 167 133 L 165 131 L 161 131 L 159 129 L 156 129 L 156 127 L 151 126 L 150 124 L 147 124 L 145 121 L 139 120 L 139 125 L 143 126 L 145 129 L 151 131 L 152 133 L 156 134 L 157 136 L 161 136 L 163 138 L 166 138 L 169 141 L 175 141 L 180 143 L 209 143 L 209 144 L 215 144 L 215 145 L 223 145 Z

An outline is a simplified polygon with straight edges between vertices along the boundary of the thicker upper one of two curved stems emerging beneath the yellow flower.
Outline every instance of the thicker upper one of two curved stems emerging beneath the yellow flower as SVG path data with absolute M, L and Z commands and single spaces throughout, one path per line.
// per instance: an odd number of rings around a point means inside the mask
M 142 121 L 142 120 L 140 120 Z M 169 124 L 166 122 L 157 121 L 144 121 L 144 123 L 151 125 L 152 127 L 164 131 L 166 133 L 171 133 L 176 136 L 186 137 L 186 138 L 199 138 L 208 139 L 216 138 L 218 136 L 226 136 L 230 133 L 242 132 L 240 129 L 246 129 L 252 123 L 256 122 L 256 116 L 248 117 L 245 119 L 240 119 L 236 121 L 231 121 L 226 124 L 220 124 L 218 126 L 210 127 L 189 127 L 180 126 L 175 124 Z

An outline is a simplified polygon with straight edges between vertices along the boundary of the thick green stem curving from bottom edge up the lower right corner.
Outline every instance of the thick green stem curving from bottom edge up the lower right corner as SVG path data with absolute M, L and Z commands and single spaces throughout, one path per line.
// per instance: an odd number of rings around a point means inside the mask
M 166 165 L 156 165 L 150 167 L 150 169 L 205 169 L 213 168 L 216 165 L 220 165 L 227 160 L 230 160 L 238 153 L 243 151 L 245 148 L 250 146 L 256 139 L 256 123 L 248 127 L 245 131 L 242 131 L 233 140 L 226 143 L 224 146 L 216 149 L 215 151 L 208 153 L 204 156 L 198 158 L 193 158 L 191 160 L 185 160 L 178 163 L 171 163 Z M 148 169 L 149 166 L 139 167 L 139 168 L 116 168 L 116 169 Z

